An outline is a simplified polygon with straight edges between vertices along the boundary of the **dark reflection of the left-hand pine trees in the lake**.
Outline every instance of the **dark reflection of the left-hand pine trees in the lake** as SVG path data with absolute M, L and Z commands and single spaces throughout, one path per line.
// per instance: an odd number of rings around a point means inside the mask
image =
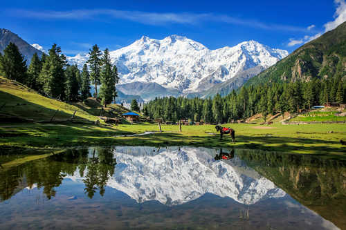
M 55 196 L 55 187 L 62 184 L 66 175 L 78 171 L 86 175 L 85 193 L 93 198 L 99 189 L 104 195 L 107 180 L 114 173 L 116 159 L 113 158 L 113 148 L 95 148 L 92 157 L 88 149 L 69 149 L 46 157 L 42 160 L 26 162 L 10 169 L 0 169 L 0 201 L 8 200 L 22 189 L 37 186 L 43 188 L 43 193 L 51 199 Z

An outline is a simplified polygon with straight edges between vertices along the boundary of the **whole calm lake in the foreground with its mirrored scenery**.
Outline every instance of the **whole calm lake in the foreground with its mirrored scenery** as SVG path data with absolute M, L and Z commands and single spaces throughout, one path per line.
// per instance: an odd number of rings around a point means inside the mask
M 190 146 L 2 151 L 0 229 L 346 229 L 346 160 Z

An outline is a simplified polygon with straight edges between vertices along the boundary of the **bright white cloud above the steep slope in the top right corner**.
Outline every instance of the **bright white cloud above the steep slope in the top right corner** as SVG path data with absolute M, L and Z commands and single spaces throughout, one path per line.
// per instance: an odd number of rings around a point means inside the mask
M 329 21 L 325 23 L 325 31 L 328 32 L 329 30 L 334 30 L 336 27 L 338 27 L 341 23 L 346 21 L 346 2 L 345 0 L 334 0 L 334 3 L 336 4 L 336 12 L 334 14 L 334 21 Z M 315 25 L 309 26 L 307 29 L 311 30 L 314 28 Z M 287 46 L 297 46 L 300 44 L 305 44 L 309 41 L 312 41 L 313 39 L 316 39 L 320 37 L 323 34 L 323 32 L 318 32 L 318 34 L 309 36 L 305 35 L 303 38 L 300 39 L 289 39 L 289 44 Z

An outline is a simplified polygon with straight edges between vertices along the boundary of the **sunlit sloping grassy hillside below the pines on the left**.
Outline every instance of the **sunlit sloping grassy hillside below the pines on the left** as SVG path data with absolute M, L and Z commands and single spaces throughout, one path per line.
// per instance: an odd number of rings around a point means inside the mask
M 56 99 L 49 99 L 39 95 L 34 90 L 0 77 L 0 114 L 6 114 L 24 119 L 33 119 L 35 122 L 49 121 L 55 115 L 55 120 L 69 119 L 74 111 L 75 119 L 94 122 L 100 115 L 102 106 L 93 99 L 87 99 L 87 103 L 75 102 L 67 104 Z M 105 115 L 119 117 L 127 109 L 119 105 L 109 105 L 104 109 Z M 1 120 L 0 120 L 1 123 Z

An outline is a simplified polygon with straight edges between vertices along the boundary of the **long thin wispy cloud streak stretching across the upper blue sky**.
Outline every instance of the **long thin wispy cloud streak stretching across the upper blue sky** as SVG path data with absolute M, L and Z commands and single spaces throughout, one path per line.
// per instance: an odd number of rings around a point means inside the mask
M 307 28 L 298 26 L 280 25 L 263 23 L 261 21 L 251 19 L 241 19 L 229 15 L 217 15 L 214 13 L 190 13 L 190 12 L 143 12 L 143 11 L 126 11 L 126 10 L 71 10 L 71 11 L 33 11 L 33 10 L 7 10 L 8 15 L 16 15 L 17 17 L 29 17 L 36 19 L 98 19 L 101 17 L 110 17 L 113 19 L 125 19 L 136 21 L 147 25 L 165 25 L 167 23 L 179 23 L 196 25 L 206 21 L 215 21 L 221 23 L 229 23 L 239 26 L 248 26 L 252 28 L 261 28 L 265 30 L 289 30 L 306 32 Z

